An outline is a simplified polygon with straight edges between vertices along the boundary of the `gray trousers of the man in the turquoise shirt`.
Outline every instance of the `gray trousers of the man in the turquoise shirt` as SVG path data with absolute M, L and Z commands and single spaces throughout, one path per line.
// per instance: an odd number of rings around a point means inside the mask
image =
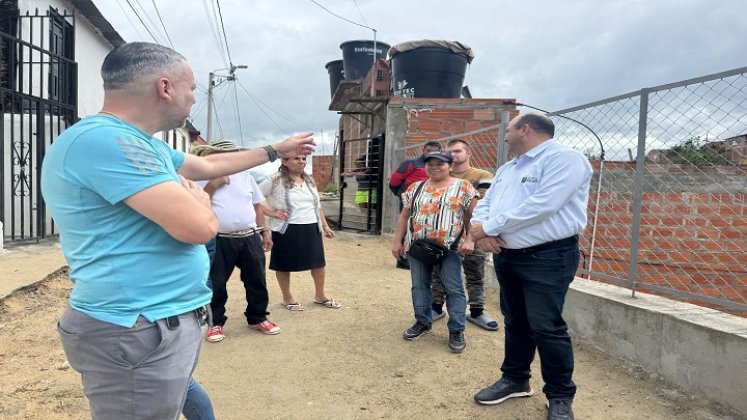
M 143 317 L 125 328 L 68 307 L 57 331 L 70 366 L 81 374 L 93 419 L 162 420 L 179 418 L 203 324 L 188 312 L 173 329 Z

